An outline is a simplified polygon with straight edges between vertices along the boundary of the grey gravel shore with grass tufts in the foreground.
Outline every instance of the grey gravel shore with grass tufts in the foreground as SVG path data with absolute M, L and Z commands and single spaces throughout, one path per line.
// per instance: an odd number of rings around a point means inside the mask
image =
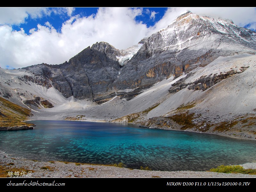
M 108 165 L 91 165 L 77 163 L 66 164 L 59 161 L 33 161 L 24 159 L 22 157 L 12 157 L 11 155 L 6 154 L 6 152 L 4 151 L 0 151 L 0 166 L 1 165 L 6 166 L 7 171 L 8 168 L 10 168 L 10 170 L 17 169 L 17 171 L 20 168 L 32 170 L 33 173 L 31 173 L 31 175 L 27 175 L 27 171 L 26 174 L 23 176 L 26 178 L 256 178 L 256 175 L 241 173 L 215 173 L 207 171 L 145 171 Z M 256 169 L 256 163 L 245 163 L 242 166 L 244 166 L 245 169 Z M 8 172 L 6 173 L 6 176 L 7 174 Z

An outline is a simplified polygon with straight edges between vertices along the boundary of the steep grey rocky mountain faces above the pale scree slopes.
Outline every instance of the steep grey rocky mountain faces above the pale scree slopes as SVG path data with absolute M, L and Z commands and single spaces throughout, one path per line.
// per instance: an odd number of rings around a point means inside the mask
M 178 77 L 208 65 L 220 56 L 255 54 L 256 32 L 228 19 L 187 12 L 144 39 L 140 50 L 121 66 L 117 57 L 124 56 L 124 52 L 97 42 L 63 64 L 26 67 L 34 77 L 24 76 L 24 80 L 47 88 L 54 86 L 66 98 L 100 102 L 115 91 L 152 86 L 172 75 Z

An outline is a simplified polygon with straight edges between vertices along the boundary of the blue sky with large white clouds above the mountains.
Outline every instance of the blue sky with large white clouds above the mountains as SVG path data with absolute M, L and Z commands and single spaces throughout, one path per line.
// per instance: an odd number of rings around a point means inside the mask
M 0 67 L 61 64 L 100 41 L 126 49 L 187 10 L 256 30 L 254 7 L 0 7 Z

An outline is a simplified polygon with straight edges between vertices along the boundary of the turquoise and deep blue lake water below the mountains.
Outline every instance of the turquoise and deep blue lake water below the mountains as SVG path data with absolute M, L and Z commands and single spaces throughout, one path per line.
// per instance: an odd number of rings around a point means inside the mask
M 256 161 L 256 141 L 212 134 L 148 129 L 132 124 L 30 121 L 33 130 L 0 131 L 0 150 L 40 161 L 94 164 L 122 162 L 128 168 L 204 171 Z

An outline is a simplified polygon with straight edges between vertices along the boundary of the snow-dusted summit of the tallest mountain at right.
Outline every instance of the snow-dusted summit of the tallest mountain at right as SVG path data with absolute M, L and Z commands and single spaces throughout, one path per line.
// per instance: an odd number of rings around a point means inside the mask
M 164 49 L 187 48 L 191 39 L 202 36 L 210 37 L 212 34 L 225 35 L 226 37 L 243 44 L 254 41 L 256 33 L 249 29 L 236 26 L 230 19 L 209 18 L 186 12 L 177 17 L 170 25 L 159 31 L 165 47 Z M 255 47 L 255 43 L 254 46 Z

